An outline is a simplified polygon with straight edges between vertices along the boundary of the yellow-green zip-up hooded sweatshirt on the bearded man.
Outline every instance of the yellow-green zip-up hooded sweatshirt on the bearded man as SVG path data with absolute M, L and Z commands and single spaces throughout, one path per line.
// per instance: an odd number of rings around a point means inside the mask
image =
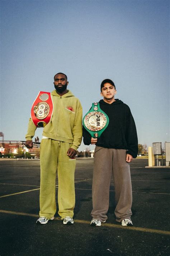
M 77 150 L 82 139 L 82 107 L 71 91 L 60 96 L 56 90 L 52 93 L 53 114 L 49 123 L 43 128 L 47 138 L 67 142 Z M 29 119 L 26 140 L 32 140 L 37 127 Z

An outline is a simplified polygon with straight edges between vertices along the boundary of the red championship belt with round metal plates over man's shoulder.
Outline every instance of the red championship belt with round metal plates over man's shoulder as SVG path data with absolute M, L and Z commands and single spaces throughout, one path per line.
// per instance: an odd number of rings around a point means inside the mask
M 51 120 L 53 102 L 51 93 L 40 91 L 31 108 L 31 119 L 37 127 L 44 127 Z

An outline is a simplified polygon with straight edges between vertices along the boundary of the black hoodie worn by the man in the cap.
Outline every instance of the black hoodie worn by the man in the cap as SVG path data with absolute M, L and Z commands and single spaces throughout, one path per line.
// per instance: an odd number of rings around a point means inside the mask
M 97 146 L 103 148 L 127 149 L 127 153 L 134 158 L 138 153 L 138 139 L 136 126 L 131 110 L 121 100 L 108 104 L 104 100 L 99 101 L 100 108 L 108 115 L 109 125 L 98 138 Z M 90 145 L 91 135 L 83 127 L 83 142 Z

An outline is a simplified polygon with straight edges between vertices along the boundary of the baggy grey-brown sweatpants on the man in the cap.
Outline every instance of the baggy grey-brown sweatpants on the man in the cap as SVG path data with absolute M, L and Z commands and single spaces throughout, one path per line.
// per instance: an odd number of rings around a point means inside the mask
M 131 219 L 132 184 L 126 149 L 95 147 L 92 185 L 93 210 L 91 216 L 100 221 L 107 220 L 109 208 L 110 180 L 115 187 L 116 221 Z

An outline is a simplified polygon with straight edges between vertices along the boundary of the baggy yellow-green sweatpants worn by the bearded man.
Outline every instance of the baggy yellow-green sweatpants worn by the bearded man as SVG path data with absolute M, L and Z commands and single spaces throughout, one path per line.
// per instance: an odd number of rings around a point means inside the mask
M 56 173 L 58 174 L 58 214 L 61 219 L 74 215 L 76 160 L 67 156 L 70 146 L 71 144 L 58 140 L 41 140 L 39 216 L 50 219 L 56 213 Z

